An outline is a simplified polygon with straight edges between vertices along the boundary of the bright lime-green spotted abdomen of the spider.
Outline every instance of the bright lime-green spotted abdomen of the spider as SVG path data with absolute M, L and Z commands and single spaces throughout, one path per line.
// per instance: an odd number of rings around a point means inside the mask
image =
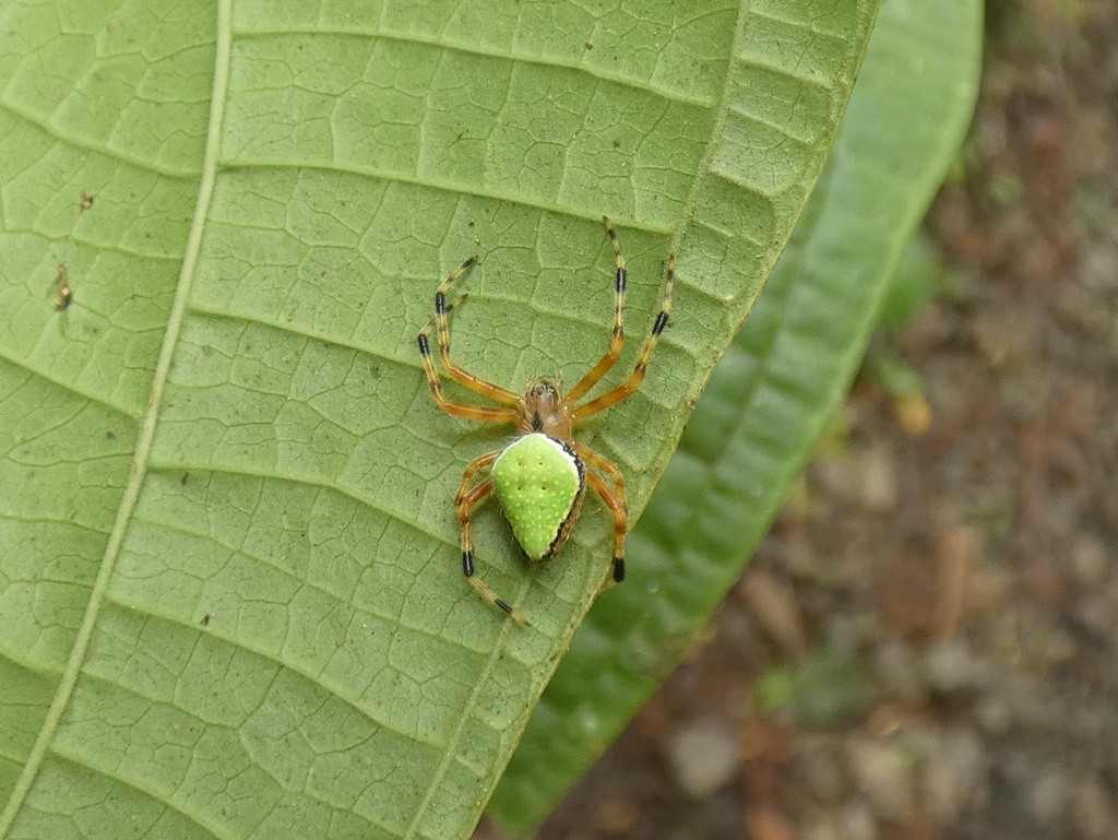
M 562 441 L 532 433 L 504 447 L 490 476 L 524 554 L 550 559 L 567 541 L 586 494 L 582 461 Z

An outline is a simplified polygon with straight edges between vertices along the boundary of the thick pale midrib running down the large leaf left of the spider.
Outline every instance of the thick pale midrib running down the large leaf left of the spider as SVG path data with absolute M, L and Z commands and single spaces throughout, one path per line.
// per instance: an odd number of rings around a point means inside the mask
M 217 179 L 218 162 L 221 153 L 221 125 L 225 114 L 225 101 L 229 84 L 229 58 L 233 44 L 233 0 L 217 0 L 217 27 L 215 31 L 214 49 L 214 83 L 210 92 L 209 125 L 206 134 L 206 149 L 202 155 L 201 177 L 198 183 L 198 198 L 195 204 L 193 218 L 190 223 L 190 233 L 187 237 L 187 246 L 182 255 L 182 265 L 179 270 L 179 282 L 174 293 L 174 300 L 168 315 L 167 332 L 163 334 L 163 343 L 160 347 L 159 358 L 155 362 L 155 371 L 152 376 L 151 390 L 144 412 L 140 417 L 140 431 L 136 435 L 135 454 L 132 457 L 132 466 L 129 471 L 129 480 L 124 487 L 121 503 L 116 510 L 116 519 L 113 530 L 110 534 L 105 553 L 97 569 L 97 577 L 93 583 L 89 593 L 89 603 L 86 606 L 85 615 L 74 640 L 74 648 L 66 661 L 58 688 L 47 710 L 42 727 L 35 739 L 35 746 L 23 765 L 23 770 L 16 781 L 10 799 L 3 812 L 0 813 L 0 840 L 7 838 L 16 821 L 16 815 L 22 808 L 23 801 L 38 775 L 44 757 L 54 739 L 61 720 L 63 714 L 69 704 L 77 683 L 82 663 L 85 661 L 86 652 L 89 648 L 89 640 L 93 638 L 93 630 L 97 622 L 101 605 L 105 600 L 108 582 L 113 574 L 113 568 L 120 557 L 121 545 L 127 531 L 129 523 L 140 498 L 140 490 L 148 475 L 149 457 L 151 455 L 152 441 L 155 436 L 155 424 L 159 417 L 159 408 L 162 402 L 163 389 L 167 385 L 168 374 L 171 369 L 171 361 L 174 356 L 174 348 L 178 343 L 179 331 L 187 311 L 187 300 L 190 296 L 190 286 L 193 280 L 195 268 L 198 264 L 198 255 L 201 251 L 202 232 L 206 225 L 206 217 L 209 210 L 210 200 L 214 196 L 214 183 Z

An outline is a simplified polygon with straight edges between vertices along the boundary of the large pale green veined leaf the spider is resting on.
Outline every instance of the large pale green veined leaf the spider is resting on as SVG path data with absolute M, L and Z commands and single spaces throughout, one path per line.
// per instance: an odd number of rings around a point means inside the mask
M 479 253 L 458 359 L 574 381 L 610 336 L 601 214 L 634 336 L 674 252 L 645 387 L 584 437 L 635 516 L 874 9 L 0 3 L 0 838 L 466 836 L 612 526 L 588 504 L 528 569 L 479 516 L 531 629 L 462 579 L 449 503 L 508 428 L 430 400 L 435 286 Z

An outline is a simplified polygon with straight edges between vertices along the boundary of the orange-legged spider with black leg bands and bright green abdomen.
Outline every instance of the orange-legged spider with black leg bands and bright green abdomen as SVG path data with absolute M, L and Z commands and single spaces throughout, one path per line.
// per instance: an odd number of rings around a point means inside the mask
M 644 381 L 648 359 L 656 348 L 660 334 L 667 325 L 672 310 L 672 282 L 675 259 L 669 255 L 664 266 L 664 291 L 660 312 L 652 332 L 629 378 L 599 397 L 579 404 L 579 400 L 598 384 L 620 357 L 625 343 L 625 284 L 627 272 L 617 234 L 609 219 L 601 220 L 614 249 L 616 275 L 614 283 L 614 332 L 609 348 L 578 384 L 563 394 L 559 379 L 532 377 L 523 394 L 494 385 L 467 372 L 451 360 L 451 327 L 447 315 L 462 304 L 465 295 L 453 303 L 447 293 L 456 280 L 477 262 L 466 259 L 443 281 L 435 292 L 435 317 L 419 332 L 419 355 L 423 357 L 427 385 L 435 403 L 447 414 L 490 423 L 510 423 L 517 427 L 515 437 L 501 450 L 475 459 L 462 474 L 462 484 L 454 497 L 454 512 L 462 537 L 462 574 L 470 585 L 493 606 L 503 610 L 518 624 L 529 622 L 508 601 L 498 596 L 474 574 L 474 548 L 470 535 L 471 516 L 491 494 L 496 495 L 505 519 L 512 527 L 518 545 L 532 563 L 550 560 L 563 547 L 578 520 L 586 485 L 601 497 L 614 518 L 613 579 L 625 579 L 625 532 L 628 528 L 628 508 L 625 503 L 625 476 L 617 466 L 586 444 L 575 440 L 577 423 L 635 393 Z M 489 398 L 496 406 L 455 403 L 443 394 L 438 371 L 432 359 L 428 336 L 436 331 L 438 353 L 449 377 L 470 390 Z M 474 478 L 487 470 L 489 476 L 474 484 Z M 607 476 L 613 488 L 606 482 Z

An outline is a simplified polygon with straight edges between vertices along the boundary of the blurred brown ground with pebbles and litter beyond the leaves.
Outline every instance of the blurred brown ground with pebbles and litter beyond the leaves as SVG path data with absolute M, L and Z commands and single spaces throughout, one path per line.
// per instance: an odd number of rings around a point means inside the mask
M 540 840 L 1118 838 L 1118 2 L 987 3 L 926 233 L 707 640 Z

